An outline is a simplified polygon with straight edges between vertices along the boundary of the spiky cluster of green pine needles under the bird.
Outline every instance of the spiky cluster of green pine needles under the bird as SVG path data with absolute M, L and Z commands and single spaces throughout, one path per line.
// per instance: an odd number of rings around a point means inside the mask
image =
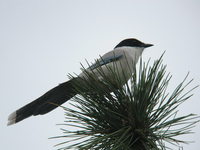
M 66 145 L 59 150 L 160 150 L 170 149 L 166 143 L 188 143 L 178 136 L 192 133 L 199 117 L 178 116 L 177 108 L 196 87 L 185 92 L 192 82 L 186 82 L 187 75 L 172 94 L 167 93 L 171 75 L 162 65 L 162 57 L 152 66 L 140 61 L 131 83 L 123 87 L 116 70 L 108 68 L 112 76 L 106 76 L 100 68 L 101 80 L 85 71 L 87 79 L 78 80 L 74 86 L 80 94 L 73 98 L 73 108 L 63 107 L 63 125 L 75 129 L 62 129 L 64 135 L 54 137 L 66 140 L 58 144 Z

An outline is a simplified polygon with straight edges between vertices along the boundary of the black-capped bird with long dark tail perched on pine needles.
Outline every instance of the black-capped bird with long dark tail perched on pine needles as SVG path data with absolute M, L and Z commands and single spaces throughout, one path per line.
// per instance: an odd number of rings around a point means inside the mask
M 111 71 L 108 68 L 113 68 L 113 70 L 118 70 L 119 77 L 124 79 L 122 82 L 122 84 L 124 84 L 133 74 L 134 67 L 144 49 L 151 46 L 153 46 L 153 44 L 143 43 L 135 38 L 124 39 L 119 42 L 113 50 L 105 53 L 99 59 L 97 59 L 95 63 L 86 68 L 85 71 L 93 72 L 94 74 L 97 74 L 99 78 L 101 78 L 99 71 L 103 71 L 104 74 L 109 75 Z M 130 67 L 129 65 L 133 66 Z M 101 69 L 99 70 L 99 68 Z M 73 85 L 75 84 L 77 78 L 87 78 L 85 71 L 83 70 L 78 77 L 69 79 L 64 83 L 59 84 L 36 100 L 11 113 L 8 116 L 7 125 L 16 124 L 30 116 L 44 115 L 49 113 L 66 101 L 70 100 L 75 95 L 79 94 L 76 90 L 74 90 Z M 125 75 L 124 72 L 126 72 Z

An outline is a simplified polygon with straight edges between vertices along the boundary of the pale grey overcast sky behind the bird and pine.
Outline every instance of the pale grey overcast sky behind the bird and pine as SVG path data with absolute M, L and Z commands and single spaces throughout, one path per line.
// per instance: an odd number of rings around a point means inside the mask
M 56 149 L 63 140 L 48 138 L 61 135 L 56 124 L 64 121 L 62 109 L 9 127 L 8 115 L 124 38 L 155 44 L 144 52 L 146 61 L 166 51 L 170 88 L 188 71 L 192 86 L 199 84 L 199 18 L 199 0 L 0 0 L 1 149 Z M 180 115 L 200 114 L 199 91 L 180 107 Z M 194 132 L 182 137 L 196 141 L 184 149 L 199 147 L 199 125 Z

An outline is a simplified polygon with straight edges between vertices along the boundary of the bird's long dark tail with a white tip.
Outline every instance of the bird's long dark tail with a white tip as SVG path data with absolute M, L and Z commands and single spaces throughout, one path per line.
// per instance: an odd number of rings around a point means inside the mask
M 73 88 L 73 82 L 75 80 L 76 78 L 58 85 L 38 99 L 16 110 L 9 115 L 7 125 L 15 124 L 32 115 L 46 114 L 57 108 L 59 105 L 62 105 L 77 94 Z

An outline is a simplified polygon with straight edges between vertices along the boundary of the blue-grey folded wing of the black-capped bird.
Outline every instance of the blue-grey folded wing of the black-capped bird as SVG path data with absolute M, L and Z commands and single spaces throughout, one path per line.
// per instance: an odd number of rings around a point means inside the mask
M 123 57 L 123 54 L 115 54 L 115 53 L 108 53 L 107 55 L 104 55 L 103 57 L 101 57 L 100 59 L 96 60 L 96 62 L 94 64 L 92 64 L 89 69 L 93 70 L 96 69 L 100 66 L 106 65 L 108 63 L 117 61 L 119 59 L 121 59 Z

